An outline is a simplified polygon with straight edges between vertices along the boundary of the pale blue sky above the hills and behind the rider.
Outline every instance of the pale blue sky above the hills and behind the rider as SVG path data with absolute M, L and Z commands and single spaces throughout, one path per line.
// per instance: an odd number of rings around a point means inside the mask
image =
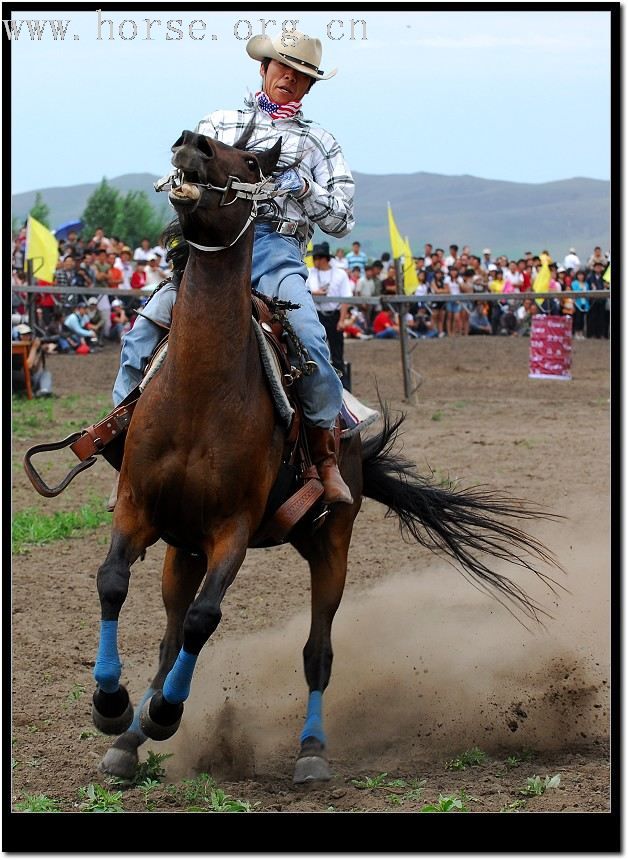
M 14 26 L 47 23 L 11 41 L 12 192 L 168 172 L 183 129 L 259 88 L 245 46 L 261 19 L 321 39 L 338 74 L 303 108 L 354 172 L 610 179 L 608 11 L 243 8 L 16 11 Z

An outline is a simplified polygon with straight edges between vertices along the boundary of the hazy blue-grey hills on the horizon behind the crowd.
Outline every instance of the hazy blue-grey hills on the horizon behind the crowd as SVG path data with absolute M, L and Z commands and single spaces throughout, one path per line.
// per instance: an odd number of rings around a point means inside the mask
M 332 250 L 338 245 L 350 250 L 351 242 L 358 240 L 369 256 L 380 256 L 389 246 L 388 201 L 415 255 L 423 252 L 425 242 L 445 250 L 451 243 L 469 245 L 478 254 L 488 246 L 493 253 L 509 257 L 547 248 L 555 258 L 561 258 L 573 246 L 582 258 L 595 245 L 605 251 L 610 247 L 610 182 L 577 177 L 526 184 L 435 173 L 355 173 L 354 177 L 354 231 L 338 240 L 323 237 L 319 230 L 314 236 L 315 241 L 328 239 Z M 154 191 L 156 179 L 149 173 L 130 173 L 109 183 L 124 193 L 145 191 L 160 209 L 166 198 Z M 98 184 L 37 189 L 50 208 L 53 229 L 80 217 Z M 14 217 L 25 219 L 35 194 L 13 195 Z

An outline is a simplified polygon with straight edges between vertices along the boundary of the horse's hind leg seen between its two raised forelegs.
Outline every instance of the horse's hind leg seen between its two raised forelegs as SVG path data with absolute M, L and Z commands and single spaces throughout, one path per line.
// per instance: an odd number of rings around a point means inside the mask
M 168 547 L 162 573 L 162 596 L 166 608 L 166 630 L 159 647 L 159 668 L 150 687 L 135 709 L 128 730 L 112 744 L 101 762 L 101 770 L 131 779 L 139 763 L 138 750 L 147 740 L 140 726 L 144 704 L 163 686 L 164 679 L 181 649 L 183 619 L 205 574 L 205 559 Z

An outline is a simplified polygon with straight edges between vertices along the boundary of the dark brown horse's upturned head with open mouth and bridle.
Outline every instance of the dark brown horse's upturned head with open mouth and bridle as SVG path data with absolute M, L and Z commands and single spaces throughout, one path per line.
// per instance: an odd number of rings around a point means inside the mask
M 262 184 L 281 154 L 281 138 L 263 152 L 227 146 L 184 131 L 172 145 L 177 174 L 169 193 L 185 238 L 212 250 L 230 247 L 252 221 Z M 270 192 L 270 188 L 268 188 Z M 268 194 L 269 196 L 269 194 Z

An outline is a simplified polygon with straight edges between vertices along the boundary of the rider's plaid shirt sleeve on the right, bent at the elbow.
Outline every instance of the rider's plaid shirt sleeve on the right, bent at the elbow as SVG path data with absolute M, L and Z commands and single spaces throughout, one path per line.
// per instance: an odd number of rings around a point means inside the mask
M 319 158 L 312 165 L 309 188 L 298 198 L 308 218 L 330 236 L 346 236 L 355 226 L 353 196 L 355 182 L 338 142 L 323 139 Z

